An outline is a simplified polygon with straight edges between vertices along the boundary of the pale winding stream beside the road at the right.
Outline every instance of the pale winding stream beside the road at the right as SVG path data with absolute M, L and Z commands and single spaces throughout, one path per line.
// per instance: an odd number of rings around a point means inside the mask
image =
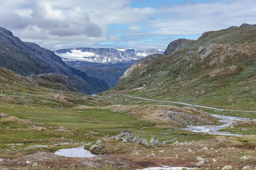
M 241 120 L 251 120 L 256 121 L 256 119 L 249 119 L 249 118 L 242 118 L 242 117 L 234 117 L 234 116 L 221 116 L 217 114 L 211 114 L 212 116 L 219 118 L 219 122 L 225 123 L 220 126 L 191 126 L 188 128 L 184 128 L 183 130 L 189 130 L 192 132 L 202 132 L 202 133 L 208 133 L 208 134 L 218 134 L 218 135 L 228 135 L 228 136 L 245 136 L 245 135 L 239 135 L 239 134 L 232 134 L 229 132 L 220 132 L 220 129 L 223 129 L 225 127 L 228 127 L 232 125 L 233 122 L 241 121 Z

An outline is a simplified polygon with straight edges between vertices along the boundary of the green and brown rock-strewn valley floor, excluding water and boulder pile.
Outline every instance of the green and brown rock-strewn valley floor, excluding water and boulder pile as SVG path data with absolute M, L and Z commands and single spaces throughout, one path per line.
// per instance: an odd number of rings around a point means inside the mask
M 151 115 L 150 110 L 154 110 L 157 115 L 160 113 L 162 118 L 162 110 L 174 108 L 113 105 L 105 108 L 53 109 L 0 105 L 0 167 L 90 169 L 110 166 L 110 169 L 143 169 L 165 165 L 216 169 L 231 165 L 241 169 L 249 165 L 256 168 L 255 135 L 218 136 L 196 133 L 182 130 L 174 122 L 170 124 L 165 119 L 146 119 Z M 182 111 L 186 112 L 187 109 L 183 108 Z M 181 112 L 178 109 L 175 111 Z M 139 116 L 139 113 L 144 116 Z M 201 111 L 195 113 L 203 114 Z M 220 125 L 215 119 L 210 120 Z M 255 128 L 248 125 L 244 128 L 247 130 L 236 127 L 226 130 L 245 135 L 255 132 Z M 156 136 L 160 143 L 175 140 L 146 147 L 111 137 L 120 134 L 122 130 L 130 130 L 135 136 L 148 141 L 152 136 Z M 59 149 L 79 145 L 89 149 L 93 144 L 97 144 L 97 149 L 91 152 L 101 156 L 68 158 L 53 154 Z

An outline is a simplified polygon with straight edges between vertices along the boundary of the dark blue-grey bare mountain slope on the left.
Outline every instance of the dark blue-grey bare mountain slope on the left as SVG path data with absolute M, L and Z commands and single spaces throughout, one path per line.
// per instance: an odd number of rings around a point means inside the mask
M 109 88 L 100 78 L 68 66 L 52 51 L 31 42 L 23 42 L 11 31 L 0 27 L 0 66 L 9 68 L 23 76 L 31 74 L 57 73 L 70 77 L 79 91 L 95 94 Z

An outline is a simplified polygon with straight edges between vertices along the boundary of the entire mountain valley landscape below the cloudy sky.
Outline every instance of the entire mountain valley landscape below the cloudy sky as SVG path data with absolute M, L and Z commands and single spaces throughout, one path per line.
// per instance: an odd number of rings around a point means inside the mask
M 1 169 L 256 168 L 256 25 L 150 55 L 52 52 L 1 30 Z

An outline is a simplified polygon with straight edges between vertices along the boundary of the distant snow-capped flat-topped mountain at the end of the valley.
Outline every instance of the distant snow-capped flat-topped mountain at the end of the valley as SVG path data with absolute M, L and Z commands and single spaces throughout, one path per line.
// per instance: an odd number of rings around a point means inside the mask
M 163 54 L 165 49 L 136 50 L 132 48 L 69 48 L 53 51 L 63 61 L 123 62 Z

